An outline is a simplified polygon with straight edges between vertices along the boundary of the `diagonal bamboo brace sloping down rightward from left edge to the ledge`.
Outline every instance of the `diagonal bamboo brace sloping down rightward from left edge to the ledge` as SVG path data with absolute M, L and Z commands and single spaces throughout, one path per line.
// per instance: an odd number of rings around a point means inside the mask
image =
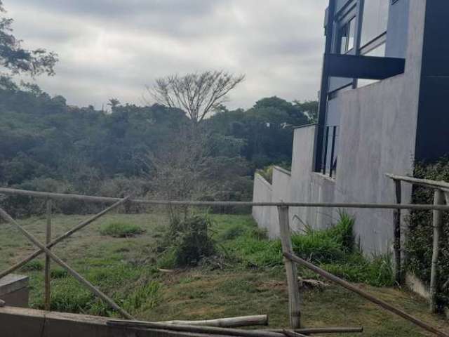
M 102 293 L 102 291 L 95 288 L 95 286 L 93 284 L 91 284 L 91 282 L 88 282 L 87 279 L 85 279 L 84 277 L 79 275 L 79 273 L 76 272 L 74 269 L 72 269 L 72 267 L 67 265 L 67 263 L 65 263 L 63 260 L 58 258 L 58 256 L 56 256 L 54 253 L 52 253 L 52 251 L 50 249 L 48 249 L 45 245 L 41 244 L 41 242 L 39 242 L 38 239 L 36 239 L 31 233 L 29 233 L 27 230 L 25 230 L 25 228 L 23 228 L 21 225 L 19 225 L 13 218 L 11 218 L 11 216 L 8 213 L 6 213 L 6 211 L 4 211 L 4 209 L 1 209 L 1 207 L 0 207 L 0 217 L 3 218 L 7 223 L 14 225 L 18 230 L 20 230 L 20 232 L 22 232 L 22 234 L 25 235 L 25 237 L 27 237 L 27 239 L 29 239 L 30 242 L 32 242 L 33 244 L 38 246 L 45 253 L 47 253 L 47 255 L 50 256 L 50 258 L 52 260 L 54 260 L 55 263 L 58 263 L 58 265 L 63 267 L 65 270 L 67 270 L 67 272 L 69 272 L 81 284 L 86 286 L 89 290 L 91 290 L 93 293 L 95 293 L 95 295 L 97 295 L 102 300 L 104 300 L 107 304 L 109 304 L 109 306 L 111 308 L 113 308 L 117 312 L 120 312 L 120 314 L 123 315 L 123 317 L 126 317 L 128 319 L 133 319 L 133 317 L 131 315 L 129 315 L 128 312 L 126 312 L 125 310 L 120 308 L 119 305 L 117 305 L 114 302 L 114 300 L 112 300 L 112 298 L 109 298 L 105 293 Z

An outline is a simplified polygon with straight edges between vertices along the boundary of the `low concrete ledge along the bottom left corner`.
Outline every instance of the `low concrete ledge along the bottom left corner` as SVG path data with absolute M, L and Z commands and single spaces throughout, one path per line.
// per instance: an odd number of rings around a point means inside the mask
M 107 317 L 46 312 L 42 310 L 0 308 L 0 336 L 7 337 L 200 337 L 156 329 L 126 329 L 107 326 Z

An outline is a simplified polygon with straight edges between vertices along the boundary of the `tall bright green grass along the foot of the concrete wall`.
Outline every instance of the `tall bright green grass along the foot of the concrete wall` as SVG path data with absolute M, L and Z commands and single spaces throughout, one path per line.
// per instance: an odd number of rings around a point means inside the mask
M 394 284 L 391 257 L 365 258 L 355 247 L 353 227 L 354 218 L 340 211 L 338 223 L 327 230 L 307 228 L 304 233 L 293 234 L 293 251 L 350 282 L 373 286 Z M 234 225 L 224 230 L 219 238 L 220 242 L 225 241 L 222 243 L 225 251 L 243 267 L 266 268 L 283 264 L 280 240 L 267 239 L 266 233 L 261 233 L 255 224 Z M 302 270 L 301 273 L 316 277 L 309 270 Z

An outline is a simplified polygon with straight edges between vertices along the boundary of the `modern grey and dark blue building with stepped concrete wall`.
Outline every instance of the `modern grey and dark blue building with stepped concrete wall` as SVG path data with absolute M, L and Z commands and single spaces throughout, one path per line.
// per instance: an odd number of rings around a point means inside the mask
M 254 201 L 394 202 L 385 173 L 412 175 L 415 161 L 449 153 L 449 1 L 330 0 L 317 124 L 294 131 L 291 172 L 255 176 Z M 410 187 L 403 187 L 409 202 Z M 293 230 L 323 228 L 335 209 L 290 208 Z M 389 210 L 358 209 L 366 253 L 393 245 Z M 271 236 L 275 208 L 254 207 Z

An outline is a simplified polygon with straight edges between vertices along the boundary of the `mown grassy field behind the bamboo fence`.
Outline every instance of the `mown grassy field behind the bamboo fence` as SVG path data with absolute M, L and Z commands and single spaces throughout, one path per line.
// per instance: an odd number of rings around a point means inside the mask
M 53 234 L 62 234 L 86 218 L 55 216 Z M 270 327 L 288 326 L 285 273 L 276 255 L 277 243 L 265 239 L 250 216 L 218 215 L 212 219 L 217 242 L 234 258 L 217 258 L 201 267 L 159 271 L 163 265 L 159 263 L 158 240 L 168 223 L 162 215 L 105 216 L 53 251 L 139 319 L 212 319 L 266 313 Z M 43 241 L 44 218 L 20 223 Z M 120 227 L 126 227 L 125 235 L 117 230 Z M 32 251 L 34 247 L 20 233 L 1 224 L 2 270 Z M 42 308 L 43 259 L 29 263 L 20 272 L 30 276 L 32 307 Z M 53 265 L 52 276 L 53 310 L 116 315 L 67 276 L 65 270 Z M 448 322 L 430 315 L 427 303 L 418 296 L 392 287 L 361 286 L 449 330 Z M 363 326 L 363 336 L 427 336 L 413 324 L 337 286 L 302 291 L 302 322 L 305 326 Z

